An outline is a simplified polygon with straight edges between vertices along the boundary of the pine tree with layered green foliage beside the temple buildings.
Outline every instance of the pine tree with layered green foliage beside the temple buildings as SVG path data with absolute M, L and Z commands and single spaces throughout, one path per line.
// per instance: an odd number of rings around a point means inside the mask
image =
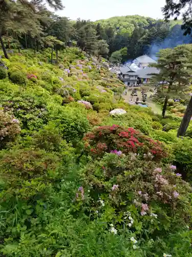
M 192 48 L 190 45 L 166 48 L 160 50 L 157 56 L 158 63 L 153 66 L 158 68 L 160 73 L 154 74 L 154 79 L 157 82 L 166 81 L 166 84 L 158 87 L 158 97 L 164 98 L 164 118 L 168 99 L 185 97 L 192 75 Z

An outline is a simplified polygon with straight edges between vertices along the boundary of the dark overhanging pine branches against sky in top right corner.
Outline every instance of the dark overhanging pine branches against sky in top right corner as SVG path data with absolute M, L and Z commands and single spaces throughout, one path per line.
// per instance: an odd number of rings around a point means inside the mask
M 168 21 L 170 17 L 174 17 L 174 20 L 177 20 L 177 18 L 182 15 L 183 24 L 181 28 L 184 29 L 184 35 L 191 34 L 191 0 L 166 0 L 166 5 L 162 8 L 162 11 L 166 21 Z

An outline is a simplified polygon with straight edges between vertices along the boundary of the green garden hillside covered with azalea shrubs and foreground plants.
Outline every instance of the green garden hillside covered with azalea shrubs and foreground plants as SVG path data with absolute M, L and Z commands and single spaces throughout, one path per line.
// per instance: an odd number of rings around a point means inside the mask
M 189 257 L 192 126 L 177 138 L 180 118 L 125 103 L 104 60 L 99 69 L 78 48 L 58 51 L 58 64 L 49 48 L 9 58 L 0 60 L 2 256 Z M 126 113 L 111 116 L 115 108 Z

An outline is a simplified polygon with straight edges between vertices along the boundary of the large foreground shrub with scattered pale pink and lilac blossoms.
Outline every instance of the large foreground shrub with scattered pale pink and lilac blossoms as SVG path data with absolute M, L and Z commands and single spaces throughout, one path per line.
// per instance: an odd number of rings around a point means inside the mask
M 169 166 L 159 167 L 153 158 L 142 160 L 133 153 L 108 153 L 89 163 L 83 175 L 91 197 L 99 195 L 105 203 L 101 211 L 96 197 L 90 203 L 94 211 L 105 215 L 111 223 L 108 213 L 113 210 L 110 215 L 118 231 L 125 227 L 138 238 L 145 238 L 146 231 L 147 238 L 153 238 L 157 245 L 167 233 L 183 228 L 187 231 L 191 188 Z

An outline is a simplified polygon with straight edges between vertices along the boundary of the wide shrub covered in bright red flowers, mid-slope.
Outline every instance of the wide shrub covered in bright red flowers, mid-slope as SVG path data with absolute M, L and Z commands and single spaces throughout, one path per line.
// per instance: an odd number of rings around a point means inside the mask
M 105 152 L 150 154 L 154 160 L 166 157 L 165 147 L 159 141 L 142 135 L 133 127 L 118 125 L 100 126 L 84 137 L 85 148 L 93 156 L 103 156 Z

